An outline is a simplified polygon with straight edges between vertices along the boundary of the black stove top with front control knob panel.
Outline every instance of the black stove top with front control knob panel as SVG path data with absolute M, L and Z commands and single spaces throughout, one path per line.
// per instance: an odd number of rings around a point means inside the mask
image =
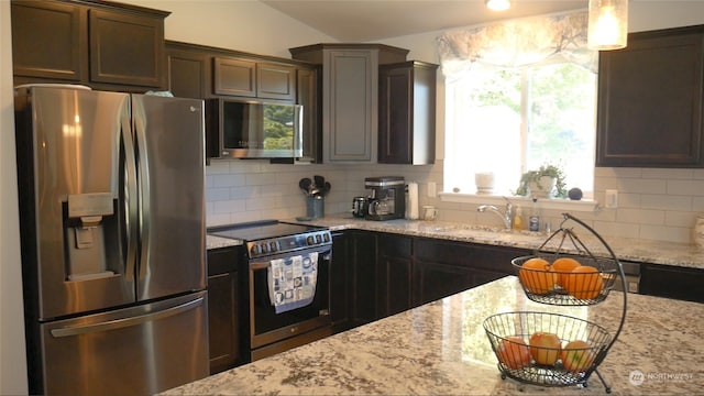
M 243 241 L 250 258 L 332 243 L 330 230 L 324 227 L 292 224 L 276 220 L 210 228 L 208 234 Z

